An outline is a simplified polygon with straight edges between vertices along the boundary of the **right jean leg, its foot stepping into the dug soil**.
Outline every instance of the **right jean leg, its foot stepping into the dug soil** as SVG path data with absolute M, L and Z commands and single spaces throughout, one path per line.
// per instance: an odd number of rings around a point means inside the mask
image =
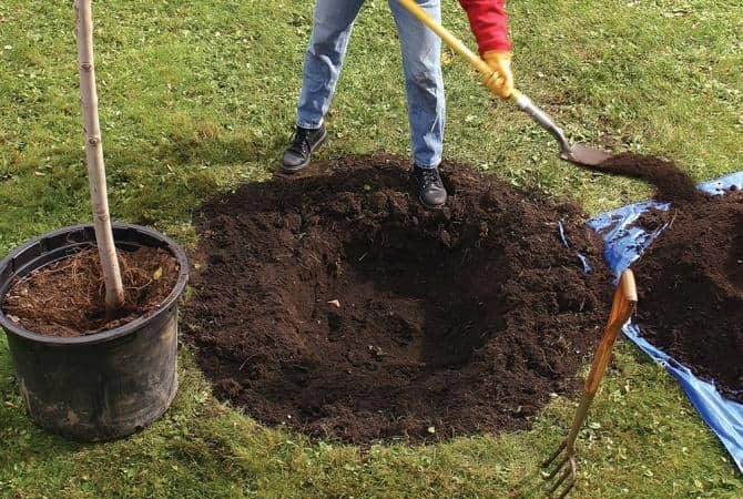
M 416 0 L 434 19 L 441 19 L 440 0 Z M 397 0 L 389 0 L 400 34 L 413 161 L 435 167 L 444 149 L 445 99 L 441 40 Z

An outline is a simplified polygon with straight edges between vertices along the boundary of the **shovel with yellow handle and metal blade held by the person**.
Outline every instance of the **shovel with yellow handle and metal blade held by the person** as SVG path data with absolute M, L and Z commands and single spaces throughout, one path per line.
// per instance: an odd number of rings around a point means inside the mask
M 436 22 L 434 18 L 428 14 L 428 12 L 426 12 L 415 2 L 415 0 L 399 0 L 399 2 L 413 16 L 418 18 L 420 22 L 426 24 L 436 34 L 438 34 L 444 43 L 449 45 L 451 50 L 465 58 L 482 77 L 491 78 L 493 75 L 493 71 L 490 69 L 487 62 L 469 50 L 461 41 L 451 34 L 449 30 Z M 531 99 L 518 90 L 513 89 L 509 100 L 513 101 L 516 105 L 529 114 L 533 121 L 539 123 L 539 125 L 541 125 L 550 133 L 550 135 L 554 138 L 554 140 L 560 145 L 560 159 L 579 165 L 598 166 L 611 157 L 611 154 L 598 149 L 589 147 L 582 144 L 570 144 L 568 138 L 564 136 L 562 130 L 560 130 L 560 128 L 554 124 L 549 114 L 542 111 L 539 106 L 531 102 Z

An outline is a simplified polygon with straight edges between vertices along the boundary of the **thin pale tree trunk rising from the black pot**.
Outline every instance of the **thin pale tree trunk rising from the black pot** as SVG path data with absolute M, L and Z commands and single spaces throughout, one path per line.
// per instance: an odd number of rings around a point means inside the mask
M 85 128 L 85 156 L 90 200 L 93 207 L 95 241 L 101 255 L 103 281 L 105 282 L 105 310 L 112 316 L 124 303 L 124 287 L 121 282 L 116 247 L 113 242 L 109 197 L 105 186 L 103 143 L 98 118 L 98 92 L 93 67 L 93 18 L 91 0 L 75 0 L 75 24 L 78 29 L 78 62 L 80 64 L 80 93 Z

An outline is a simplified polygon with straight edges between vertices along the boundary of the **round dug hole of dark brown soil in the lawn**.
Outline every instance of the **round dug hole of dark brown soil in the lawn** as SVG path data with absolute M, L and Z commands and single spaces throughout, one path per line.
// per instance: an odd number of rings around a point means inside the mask
M 579 386 L 612 294 L 579 210 L 446 163 L 451 197 L 426 211 L 406 163 L 323 163 L 203 207 L 184 325 L 220 398 L 368 442 L 526 428 Z

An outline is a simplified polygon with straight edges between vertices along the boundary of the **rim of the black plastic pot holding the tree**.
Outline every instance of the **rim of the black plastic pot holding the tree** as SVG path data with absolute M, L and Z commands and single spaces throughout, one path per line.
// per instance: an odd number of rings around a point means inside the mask
M 95 333 L 92 335 L 86 335 L 86 336 L 75 336 L 75 337 L 58 337 L 58 336 L 47 336 L 42 335 L 39 333 L 33 333 L 29 329 L 26 329 L 21 327 L 19 324 L 10 320 L 4 312 L 2 310 L 2 307 L 0 306 L 0 328 L 6 329 L 6 332 L 11 333 L 16 336 L 20 336 L 21 338 L 28 339 L 33 343 L 41 343 L 48 346 L 64 346 L 64 345 L 95 345 L 100 343 L 105 343 L 110 342 L 116 338 L 121 338 L 122 336 L 126 336 L 128 334 L 131 334 L 135 330 L 141 329 L 143 326 L 146 324 L 153 323 L 157 320 L 163 313 L 165 313 L 177 299 L 179 297 L 183 294 L 183 291 L 185 289 L 185 285 L 189 282 L 189 259 L 186 257 L 185 252 L 181 246 L 175 243 L 175 241 L 171 240 L 167 237 L 165 234 L 162 234 L 153 228 L 145 227 L 142 225 L 136 225 L 136 224 L 128 224 L 128 223 L 122 223 L 122 222 L 115 222 L 112 224 L 113 230 L 116 228 L 123 228 L 123 230 L 134 230 L 136 232 L 144 233 L 145 235 L 153 237 L 155 240 L 159 240 L 163 243 L 165 243 L 165 247 L 170 253 L 177 259 L 179 263 L 179 278 L 175 282 L 175 285 L 173 286 L 173 291 L 167 295 L 167 297 L 160 304 L 157 308 L 154 310 L 150 312 L 146 315 L 140 316 L 135 318 L 134 320 L 126 323 L 122 326 L 115 327 L 113 329 L 108 329 L 108 330 L 102 330 L 100 333 Z M 93 225 L 92 224 L 78 224 L 78 225 L 70 225 L 67 227 L 58 228 L 55 231 L 47 232 L 38 237 L 34 237 L 31 241 L 28 241 L 27 243 L 21 244 L 18 246 L 16 249 L 11 251 L 4 258 L 0 261 L 0 273 L 2 271 L 10 266 L 11 262 L 18 257 L 20 254 L 23 252 L 28 251 L 30 247 L 32 247 L 35 244 L 39 244 L 39 241 L 44 238 L 44 237 L 50 237 L 50 236 L 60 236 L 65 233 L 74 232 L 74 231 L 84 231 L 84 230 L 92 230 Z M 92 243 L 95 241 L 93 240 Z M 115 234 L 114 234 L 114 242 L 115 242 Z M 61 246 L 60 246 L 61 247 Z M 41 267 L 37 267 L 41 268 Z M 35 268 L 34 268 L 35 269 Z M 6 289 L 7 293 L 8 289 Z M 2 298 L 4 297 L 6 293 L 0 295 L 0 304 L 2 303 Z

